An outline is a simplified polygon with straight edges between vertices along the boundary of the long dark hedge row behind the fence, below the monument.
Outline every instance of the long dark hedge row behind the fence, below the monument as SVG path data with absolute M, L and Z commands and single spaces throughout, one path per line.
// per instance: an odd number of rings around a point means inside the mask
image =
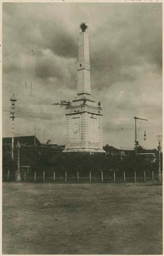
M 110 156 L 100 153 L 62 153 L 52 151 L 28 151 L 20 150 L 20 165 L 29 165 L 31 171 L 42 173 L 45 170 L 47 175 L 51 175 L 52 171 L 56 171 L 59 175 L 67 171 L 68 175 L 77 175 L 77 170 L 84 175 L 89 171 L 94 175 L 100 174 L 101 170 L 109 172 L 115 170 L 118 176 L 122 176 L 123 171 L 126 171 L 128 176 L 133 175 L 134 171 L 142 174 L 144 170 L 158 171 L 158 161 L 154 159 L 144 159 L 143 156 L 127 156 L 121 160 L 120 156 Z M 2 154 L 3 172 L 10 170 L 16 171 L 16 154 L 14 161 L 11 160 L 10 152 L 3 150 Z M 161 168 L 162 169 L 162 168 Z

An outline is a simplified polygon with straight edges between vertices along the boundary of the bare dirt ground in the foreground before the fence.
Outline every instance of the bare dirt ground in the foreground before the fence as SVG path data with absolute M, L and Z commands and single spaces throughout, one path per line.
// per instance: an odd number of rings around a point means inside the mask
M 162 186 L 3 183 L 2 228 L 3 254 L 162 254 Z

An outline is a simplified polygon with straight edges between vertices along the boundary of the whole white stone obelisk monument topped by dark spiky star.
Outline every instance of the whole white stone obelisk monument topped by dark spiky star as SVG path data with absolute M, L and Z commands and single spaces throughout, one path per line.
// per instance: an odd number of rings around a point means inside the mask
M 66 142 L 63 152 L 101 152 L 102 108 L 91 97 L 88 26 L 80 24 L 77 62 L 77 97 L 66 107 Z

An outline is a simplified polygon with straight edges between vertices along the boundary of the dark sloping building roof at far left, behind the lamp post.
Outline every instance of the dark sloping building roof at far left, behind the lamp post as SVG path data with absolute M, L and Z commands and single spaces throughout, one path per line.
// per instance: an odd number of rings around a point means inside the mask
M 35 141 L 36 141 L 36 145 L 41 144 L 38 138 L 34 135 L 14 137 L 14 144 L 17 143 L 18 140 L 20 144 L 34 145 Z M 11 143 L 12 143 L 12 137 L 2 138 L 2 144 L 11 144 Z

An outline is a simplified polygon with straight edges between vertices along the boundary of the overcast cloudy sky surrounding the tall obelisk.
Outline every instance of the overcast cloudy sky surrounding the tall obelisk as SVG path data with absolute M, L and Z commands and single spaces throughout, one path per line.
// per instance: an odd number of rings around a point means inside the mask
M 3 3 L 3 136 L 65 143 L 65 110 L 52 106 L 77 92 L 79 24 L 89 26 L 91 96 L 103 108 L 103 145 L 156 148 L 162 134 L 161 3 Z M 25 86 L 27 81 L 27 89 Z M 32 81 L 32 96 L 30 82 Z M 35 101 L 36 98 L 36 101 Z M 24 112 L 47 113 L 29 114 Z M 147 140 L 144 141 L 146 129 Z

